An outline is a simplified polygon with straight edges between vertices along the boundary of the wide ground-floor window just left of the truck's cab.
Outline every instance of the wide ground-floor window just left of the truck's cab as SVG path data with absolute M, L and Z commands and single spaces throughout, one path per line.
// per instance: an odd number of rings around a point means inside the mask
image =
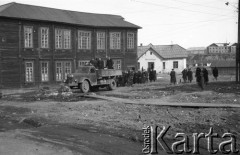
M 67 79 L 67 75 L 72 73 L 72 65 L 70 61 L 56 62 L 56 81 Z

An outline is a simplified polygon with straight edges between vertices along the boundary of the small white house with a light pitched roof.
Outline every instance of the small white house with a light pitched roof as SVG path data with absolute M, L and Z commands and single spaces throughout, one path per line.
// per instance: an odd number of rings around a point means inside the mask
M 138 46 L 138 69 L 153 68 L 157 73 L 174 69 L 180 73 L 187 66 L 187 57 L 186 49 L 177 44 Z

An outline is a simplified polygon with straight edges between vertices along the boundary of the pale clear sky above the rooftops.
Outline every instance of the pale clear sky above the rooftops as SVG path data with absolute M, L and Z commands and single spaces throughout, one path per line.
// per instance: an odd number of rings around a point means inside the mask
M 0 0 L 0 5 L 13 0 Z M 184 48 L 237 42 L 238 0 L 15 0 L 17 3 L 114 14 L 142 27 L 138 45 Z M 229 2 L 229 5 L 225 3 Z

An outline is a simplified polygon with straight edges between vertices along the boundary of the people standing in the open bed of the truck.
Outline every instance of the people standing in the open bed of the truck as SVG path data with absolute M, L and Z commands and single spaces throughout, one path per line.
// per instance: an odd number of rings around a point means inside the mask
M 113 60 L 108 57 L 107 61 L 106 61 L 106 66 L 104 66 L 104 61 L 101 58 L 96 58 L 96 59 L 92 59 L 90 60 L 90 64 L 93 65 L 95 68 L 97 69 L 113 69 Z

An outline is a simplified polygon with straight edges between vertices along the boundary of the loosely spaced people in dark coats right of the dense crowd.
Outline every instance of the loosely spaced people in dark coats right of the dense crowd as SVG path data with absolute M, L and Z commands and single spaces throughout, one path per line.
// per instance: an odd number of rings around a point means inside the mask
M 217 67 L 214 67 L 212 70 L 212 74 L 213 77 L 215 78 L 215 80 L 217 80 L 218 77 L 218 69 Z M 209 77 L 208 77 L 208 70 L 205 67 L 197 67 L 196 68 L 196 73 L 195 73 L 195 77 L 196 77 L 196 82 L 199 85 L 199 87 L 201 87 L 202 89 L 204 89 L 204 85 L 208 85 L 209 82 Z M 183 82 L 192 82 L 193 80 L 193 72 L 191 71 L 191 69 L 184 69 L 182 71 L 182 78 L 183 78 Z M 174 69 L 172 69 L 172 71 L 170 72 L 170 82 L 173 84 L 176 84 L 177 79 L 176 79 L 176 72 L 174 71 Z M 181 82 L 181 80 L 180 80 Z

